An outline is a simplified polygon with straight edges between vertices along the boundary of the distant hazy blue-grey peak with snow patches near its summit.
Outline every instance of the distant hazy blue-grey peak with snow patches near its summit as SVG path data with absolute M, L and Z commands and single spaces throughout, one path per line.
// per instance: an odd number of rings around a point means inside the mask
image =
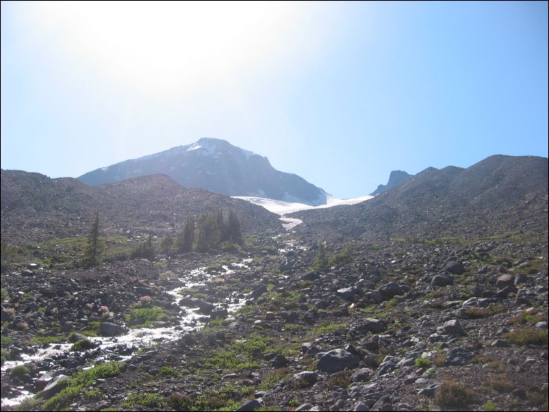
M 275 170 L 266 157 L 212 138 L 99 168 L 78 179 L 88 185 L 101 185 L 155 174 L 168 175 L 186 188 L 227 196 L 259 196 L 309 205 L 326 203 L 324 190 L 305 179 Z

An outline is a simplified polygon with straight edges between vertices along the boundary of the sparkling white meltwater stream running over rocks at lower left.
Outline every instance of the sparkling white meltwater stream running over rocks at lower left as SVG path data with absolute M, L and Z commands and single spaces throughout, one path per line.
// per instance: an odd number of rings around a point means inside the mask
M 231 263 L 229 266 L 222 266 L 224 272 L 222 274 L 216 274 L 216 276 L 224 276 L 231 274 L 235 270 L 248 270 L 248 263 L 251 263 L 252 259 L 243 259 L 240 263 Z M 202 313 L 198 313 L 199 308 L 190 308 L 179 305 L 183 296 L 181 292 L 185 289 L 191 287 L 203 286 L 206 283 L 212 281 L 212 275 L 206 272 L 206 267 L 197 268 L 186 272 L 183 276 L 179 277 L 179 280 L 183 283 L 183 286 L 177 287 L 171 291 L 167 291 L 168 294 L 173 296 L 173 302 L 175 302 L 181 311 L 179 313 L 179 324 L 169 327 L 160 327 L 160 328 L 140 328 L 140 329 L 130 329 L 125 335 L 120 335 L 116 337 L 88 337 L 90 341 L 94 344 L 98 344 L 101 354 L 98 354 L 97 357 L 94 357 L 92 362 L 103 361 L 105 359 L 112 359 L 116 357 L 118 361 L 128 360 L 133 357 L 138 348 L 151 346 L 156 342 L 169 342 L 175 339 L 179 339 L 182 335 L 189 333 L 191 331 L 198 331 L 205 326 L 209 316 L 206 316 Z M 240 298 L 238 297 L 240 296 Z M 244 296 L 244 297 L 242 297 Z M 230 296 L 222 300 L 221 302 L 214 303 L 214 306 L 217 308 L 224 308 L 228 313 L 232 313 L 242 307 L 246 302 L 246 296 L 238 292 L 233 292 Z M 28 363 L 34 363 L 37 361 L 42 361 L 47 358 L 59 357 L 64 353 L 68 353 L 71 350 L 73 344 L 51 344 L 47 348 L 41 348 L 33 355 L 21 355 L 21 360 L 18 361 L 6 361 L 2 367 L 2 374 L 8 372 L 9 370 L 18 366 Z M 128 350 L 127 348 L 131 348 Z M 126 349 L 126 350 L 125 350 Z M 119 352 L 127 353 L 127 355 L 120 355 Z M 49 372 L 44 370 L 40 372 L 40 375 Z M 1 406 L 14 406 L 20 404 L 26 398 L 31 398 L 34 394 L 29 393 L 29 391 L 23 390 L 23 387 L 18 387 L 21 391 L 20 396 L 14 398 L 2 398 Z

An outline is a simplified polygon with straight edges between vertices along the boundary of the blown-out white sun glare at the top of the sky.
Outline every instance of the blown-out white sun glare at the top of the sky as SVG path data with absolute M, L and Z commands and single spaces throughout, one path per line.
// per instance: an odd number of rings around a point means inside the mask
M 103 75 L 132 88 L 181 90 L 266 64 L 291 41 L 298 6 L 277 2 L 53 1 L 33 23 Z

